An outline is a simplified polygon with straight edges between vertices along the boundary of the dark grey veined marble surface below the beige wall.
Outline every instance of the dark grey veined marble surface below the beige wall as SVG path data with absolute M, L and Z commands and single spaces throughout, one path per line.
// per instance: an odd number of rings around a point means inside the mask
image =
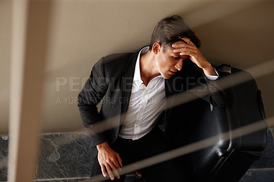
M 83 133 L 53 133 L 41 136 L 41 153 L 36 181 L 84 181 L 90 176 L 90 142 Z M 8 136 L 0 137 L 0 181 L 7 181 Z M 133 174 L 127 182 L 140 182 Z M 255 161 L 240 182 L 274 181 L 273 129 L 268 130 L 268 144 L 262 159 Z

